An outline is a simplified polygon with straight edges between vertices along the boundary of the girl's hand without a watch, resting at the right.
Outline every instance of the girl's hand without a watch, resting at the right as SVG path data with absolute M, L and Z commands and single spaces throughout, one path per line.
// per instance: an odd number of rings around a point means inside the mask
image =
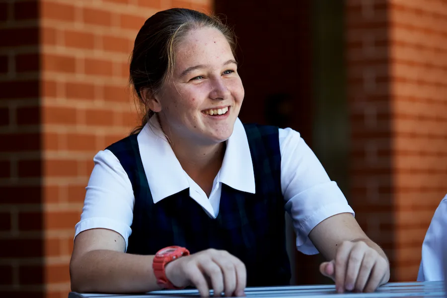
M 338 293 L 374 292 L 388 281 L 389 264 L 365 242 L 344 241 L 335 260 L 321 263 L 320 272 L 332 278 Z

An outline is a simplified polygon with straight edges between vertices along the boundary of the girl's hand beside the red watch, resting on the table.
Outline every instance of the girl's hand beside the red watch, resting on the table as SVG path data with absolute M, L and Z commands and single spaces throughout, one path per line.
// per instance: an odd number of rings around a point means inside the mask
M 202 297 L 245 296 L 247 272 L 244 263 L 224 250 L 207 249 L 181 257 L 165 267 L 166 277 L 176 287 L 194 286 Z

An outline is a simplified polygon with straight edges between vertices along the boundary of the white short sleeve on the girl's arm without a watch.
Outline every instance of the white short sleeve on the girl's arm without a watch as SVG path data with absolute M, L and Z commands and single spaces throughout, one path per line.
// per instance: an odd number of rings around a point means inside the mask
M 317 254 L 308 237 L 310 231 L 331 216 L 354 215 L 354 211 L 298 132 L 291 128 L 279 129 L 279 141 L 281 188 L 297 234 L 297 249 L 305 254 Z

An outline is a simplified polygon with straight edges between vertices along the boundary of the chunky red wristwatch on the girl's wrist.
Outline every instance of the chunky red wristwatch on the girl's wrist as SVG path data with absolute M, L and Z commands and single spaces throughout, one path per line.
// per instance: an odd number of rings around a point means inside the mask
M 164 271 L 164 266 L 167 263 L 172 262 L 180 257 L 189 255 L 189 250 L 180 246 L 168 246 L 160 249 L 153 258 L 152 268 L 155 278 L 157 279 L 157 284 L 161 288 L 169 290 L 178 290 L 183 288 L 178 288 L 174 286 L 167 278 Z

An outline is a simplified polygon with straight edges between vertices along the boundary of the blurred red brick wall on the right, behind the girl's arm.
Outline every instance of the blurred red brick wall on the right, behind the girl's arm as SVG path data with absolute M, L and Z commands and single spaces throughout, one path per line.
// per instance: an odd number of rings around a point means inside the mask
M 391 279 L 415 280 L 447 193 L 447 3 L 348 0 L 346 16 L 357 218 Z

